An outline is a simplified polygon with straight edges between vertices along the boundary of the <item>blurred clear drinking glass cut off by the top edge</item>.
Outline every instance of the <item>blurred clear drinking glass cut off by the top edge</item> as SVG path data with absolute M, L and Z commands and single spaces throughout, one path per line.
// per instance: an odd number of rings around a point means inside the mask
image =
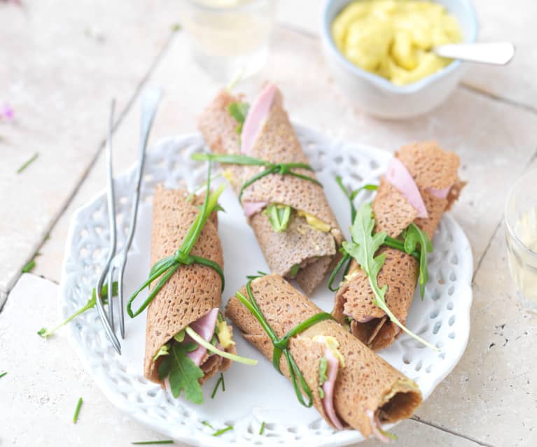
M 246 78 L 267 61 L 275 0 L 183 0 L 193 59 L 216 80 Z

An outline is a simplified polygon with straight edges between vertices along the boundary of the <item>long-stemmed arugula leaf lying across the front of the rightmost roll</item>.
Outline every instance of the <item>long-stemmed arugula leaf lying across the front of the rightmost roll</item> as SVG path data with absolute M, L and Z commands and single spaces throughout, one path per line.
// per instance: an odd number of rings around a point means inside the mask
M 358 264 L 360 264 L 361 269 L 368 276 L 369 284 L 375 294 L 375 299 L 373 304 L 381 308 L 389 319 L 396 325 L 398 325 L 404 332 L 408 335 L 417 339 L 420 343 L 423 343 L 425 346 L 433 350 L 439 350 L 435 348 L 431 343 L 426 342 L 424 339 L 421 339 L 420 336 L 417 336 L 413 332 L 401 323 L 395 315 L 390 311 L 386 305 L 386 290 L 388 285 L 384 284 L 382 287 L 379 286 L 377 275 L 379 274 L 380 269 L 384 265 L 386 260 L 386 253 L 382 255 L 375 256 L 377 250 L 384 243 L 386 239 L 386 232 L 378 232 L 372 234 L 373 229 L 375 228 L 375 219 L 372 217 L 371 204 L 365 203 L 358 210 L 356 210 L 356 217 L 352 223 L 351 227 L 351 242 L 343 242 L 342 246 L 345 252 L 349 253 Z

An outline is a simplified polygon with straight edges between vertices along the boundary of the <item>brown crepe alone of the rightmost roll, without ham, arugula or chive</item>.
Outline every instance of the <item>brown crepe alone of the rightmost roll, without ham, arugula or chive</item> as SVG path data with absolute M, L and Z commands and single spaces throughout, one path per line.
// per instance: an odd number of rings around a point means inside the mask
M 418 218 L 416 209 L 383 176 L 372 202 L 375 232 L 384 231 L 396 238 L 414 222 L 426 232 L 429 239 L 433 239 L 442 214 L 456 201 L 464 185 L 457 175 L 459 157 L 440 149 L 433 141 L 403 146 L 396 152 L 396 157 L 403 162 L 419 188 L 428 217 Z M 440 190 L 445 190 L 445 198 L 435 196 L 435 191 Z M 437 195 L 440 194 L 437 192 Z M 395 248 L 384 246 L 377 255 L 381 253 L 386 253 L 386 261 L 379 271 L 378 283 L 380 287 L 388 285 L 386 304 L 405 325 L 417 285 L 419 264 L 414 257 Z M 400 328 L 373 304 L 374 298 L 368 277 L 353 260 L 349 274 L 337 291 L 333 315 L 340 322 L 351 317 L 352 334 L 377 350 L 390 346 L 400 334 Z

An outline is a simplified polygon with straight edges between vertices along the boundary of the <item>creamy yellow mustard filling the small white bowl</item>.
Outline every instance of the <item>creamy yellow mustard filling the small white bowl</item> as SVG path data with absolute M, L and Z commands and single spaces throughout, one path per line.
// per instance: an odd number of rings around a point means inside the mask
M 451 59 L 431 48 L 462 40 L 456 18 L 431 1 L 357 0 L 332 23 L 337 48 L 353 64 L 396 85 L 414 83 Z

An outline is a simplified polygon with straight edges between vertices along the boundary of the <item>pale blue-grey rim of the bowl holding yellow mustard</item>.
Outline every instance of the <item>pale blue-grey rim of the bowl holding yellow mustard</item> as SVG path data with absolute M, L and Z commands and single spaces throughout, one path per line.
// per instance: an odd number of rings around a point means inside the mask
M 415 83 L 407 84 L 407 85 L 395 85 L 391 83 L 386 78 L 383 78 L 382 76 L 378 76 L 375 73 L 370 73 L 370 71 L 365 71 L 361 69 L 360 67 L 354 65 L 352 62 L 347 59 L 347 57 L 344 57 L 342 52 L 337 49 L 335 46 L 335 43 L 332 38 L 332 33 L 330 32 L 330 25 L 332 24 L 332 20 L 340 11 L 338 11 L 333 17 L 328 17 L 328 9 L 330 7 L 330 4 L 333 3 L 334 0 L 328 0 L 326 2 L 326 6 L 323 10 L 323 34 L 324 38 L 328 42 L 328 47 L 330 48 L 330 52 L 332 52 L 337 61 L 340 62 L 340 64 L 343 64 L 344 67 L 351 71 L 351 73 L 354 73 L 354 75 L 359 76 L 361 78 L 365 78 L 370 83 L 373 83 L 377 85 L 377 87 L 380 87 L 384 90 L 389 90 L 393 93 L 400 93 L 400 94 L 409 94 L 417 92 L 418 90 L 423 89 L 429 84 L 432 84 L 435 82 L 435 80 L 442 78 L 443 76 L 446 76 L 449 73 L 452 73 L 452 71 L 459 68 L 459 66 L 462 64 L 461 61 L 455 60 L 445 68 L 437 71 L 436 73 L 433 73 L 432 75 L 426 76 L 423 79 L 417 80 Z M 351 3 L 354 0 L 349 0 L 347 3 Z M 458 0 L 460 3 L 463 3 L 464 6 L 470 11 L 470 23 L 472 27 L 470 28 L 470 36 L 468 36 L 468 40 L 466 42 L 473 43 L 477 39 L 477 31 L 478 31 L 478 25 L 477 25 L 477 14 L 475 13 L 475 8 L 473 6 L 473 3 L 470 0 Z

